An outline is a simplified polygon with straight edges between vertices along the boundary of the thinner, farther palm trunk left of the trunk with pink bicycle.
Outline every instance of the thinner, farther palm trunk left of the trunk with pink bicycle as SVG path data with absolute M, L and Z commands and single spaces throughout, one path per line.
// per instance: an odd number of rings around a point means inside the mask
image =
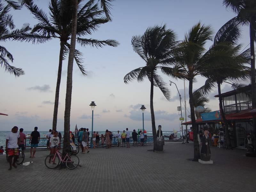
M 61 80 L 61 70 L 62 70 L 64 45 L 65 45 L 65 42 L 60 41 L 59 68 L 58 68 L 57 84 L 56 84 L 56 91 L 55 91 L 55 102 L 54 102 L 53 118 L 52 118 L 52 129 L 55 130 L 55 131 L 57 129 L 59 94 L 60 94 L 60 80 Z

